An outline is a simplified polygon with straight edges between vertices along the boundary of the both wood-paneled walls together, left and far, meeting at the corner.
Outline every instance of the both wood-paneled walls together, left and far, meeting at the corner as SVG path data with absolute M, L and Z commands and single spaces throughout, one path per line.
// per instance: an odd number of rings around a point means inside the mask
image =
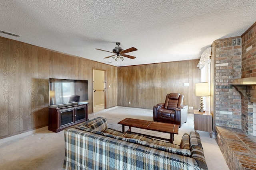
M 152 109 L 170 92 L 184 94 L 184 104 L 199 107 L 200 97 L 194 95 L 201 76 L 198 62 L 117 68 L 0 37 L 0 139 L 48 125 L 49 78 L 88 80 L 92 113 L 93 69 L 106 70 L 107 108 Z

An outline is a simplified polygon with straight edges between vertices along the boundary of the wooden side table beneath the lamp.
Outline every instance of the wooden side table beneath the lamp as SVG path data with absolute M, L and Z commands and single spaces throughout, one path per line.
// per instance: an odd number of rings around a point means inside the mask
M 210 111 L 200 112 L 194 109 L 194 127 L 195 131 L 206 131 L 212 137 L 212 114 Z

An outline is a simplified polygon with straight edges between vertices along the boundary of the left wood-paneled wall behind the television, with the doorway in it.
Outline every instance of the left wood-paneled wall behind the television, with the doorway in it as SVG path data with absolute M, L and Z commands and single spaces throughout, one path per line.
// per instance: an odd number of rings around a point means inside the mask
M 88 80 L 106 70 L 106 106 L 117 106 L 117 67 L 0 37 L 0 139 L 48 125 L 49 78 Z

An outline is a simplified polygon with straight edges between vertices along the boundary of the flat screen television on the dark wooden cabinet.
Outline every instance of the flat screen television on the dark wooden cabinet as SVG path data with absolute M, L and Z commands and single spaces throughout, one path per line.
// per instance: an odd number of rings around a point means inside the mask
M 50 106 L 88 101 L 88 80 L 49 78 Z

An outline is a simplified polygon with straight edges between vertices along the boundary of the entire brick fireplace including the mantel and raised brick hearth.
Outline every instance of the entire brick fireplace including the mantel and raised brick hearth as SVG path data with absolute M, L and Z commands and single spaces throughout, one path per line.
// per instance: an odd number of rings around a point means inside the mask
M 230 169 L 256 169 L 256 23 L 213 45 L 215 139 Z

